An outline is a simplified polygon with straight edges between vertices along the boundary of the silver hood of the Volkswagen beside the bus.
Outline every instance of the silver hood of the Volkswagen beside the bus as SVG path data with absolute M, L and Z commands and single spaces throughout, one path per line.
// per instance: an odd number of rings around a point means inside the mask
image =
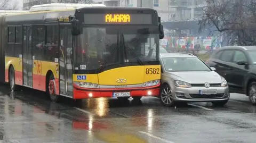
M 223 79 L 214 71 L 167 72 L 170 78 L 188 83 L 221 83 Z

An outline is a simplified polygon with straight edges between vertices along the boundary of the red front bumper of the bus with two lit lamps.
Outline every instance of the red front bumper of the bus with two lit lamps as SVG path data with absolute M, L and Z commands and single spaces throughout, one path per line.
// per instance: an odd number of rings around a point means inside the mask
M 100 97 L 115 97 L 115 92 L 130 92 L 130 97 L 136 96 L 158 96 L 160 91 L 160 85 L 147 88 L 137 89 L 85 89 L 74 86 L 73 98 L 84 99 L 84 98 L 100 98 Z

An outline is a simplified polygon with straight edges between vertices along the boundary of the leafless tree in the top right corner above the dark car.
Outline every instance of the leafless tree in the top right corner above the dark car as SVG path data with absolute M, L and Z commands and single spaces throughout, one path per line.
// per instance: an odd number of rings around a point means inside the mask
M 256 44 L 256 0 L 206 0 L 200 29 L 214 27 L 228 44 Z

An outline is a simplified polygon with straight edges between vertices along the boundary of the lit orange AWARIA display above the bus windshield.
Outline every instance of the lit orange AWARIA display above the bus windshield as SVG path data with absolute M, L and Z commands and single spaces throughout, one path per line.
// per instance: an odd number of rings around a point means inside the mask
M 84 24 L 152 24 L 152 14 L 86 13 Z

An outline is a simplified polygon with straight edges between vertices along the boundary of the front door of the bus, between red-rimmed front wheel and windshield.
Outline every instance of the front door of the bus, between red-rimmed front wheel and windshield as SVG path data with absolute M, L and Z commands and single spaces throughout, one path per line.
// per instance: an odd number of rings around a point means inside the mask
M 70 26 L 60 26 L 60 94 L 73 96 L 73 42 Z

